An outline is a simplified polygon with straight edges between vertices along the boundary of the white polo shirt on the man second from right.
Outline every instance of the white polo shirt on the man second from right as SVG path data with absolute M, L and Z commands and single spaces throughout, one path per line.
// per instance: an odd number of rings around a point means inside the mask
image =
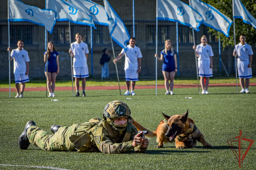
M 199 44 L 196 51 L 199 55 L 198 60 L 210 60 L 210 57 L 214 56 L 212 47 L 208 44 L 206 44 L 206 46 L 203 46 L 202 43 Z

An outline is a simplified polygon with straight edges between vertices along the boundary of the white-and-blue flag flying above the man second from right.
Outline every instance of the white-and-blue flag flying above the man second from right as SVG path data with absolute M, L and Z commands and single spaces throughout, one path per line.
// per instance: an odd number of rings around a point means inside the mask
M 233 22 L 229 17 L 219 12 L 215 7 L 200 0 L 191 0 L 191 7 L 202 15 L 202 24 L 229 37 L 230 26 Z

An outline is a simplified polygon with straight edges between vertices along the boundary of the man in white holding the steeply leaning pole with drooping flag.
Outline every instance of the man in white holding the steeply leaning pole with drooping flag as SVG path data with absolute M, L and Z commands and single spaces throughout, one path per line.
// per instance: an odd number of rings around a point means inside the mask
M 136 81 L 138 81 L 138 76 L 141 71 L 141 58 L 142 54 L 139 47 L 135 46 L 136 39 L 130 38 L 129 45 L 127 46 L 127 51 L 125 49 L 122 50 L 122 52 L 116 57 L 114 60 L 114 63 L 118 61 L 120 58 L 122 58 L 125 55 L 125 79 L 126 79 L 126 95 L 136 95 L 134 93 L 134 87 L 136 84 Z M 130 81 L 131 84 L 131 93 L 129 91 L 130 89 Z

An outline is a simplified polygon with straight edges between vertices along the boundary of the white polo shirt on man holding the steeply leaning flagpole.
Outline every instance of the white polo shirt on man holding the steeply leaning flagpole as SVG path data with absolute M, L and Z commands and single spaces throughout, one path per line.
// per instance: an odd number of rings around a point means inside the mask
M 125 70 L 131 69 L 131 70 L 138 70 L 139 64 L 138 64 L 138 58 L 142 58 L 142 54 L 139 47 L 132 48 L 130 45 L 127 46 L 127 51 L 123 49 L 121 53 L 125 54 Z

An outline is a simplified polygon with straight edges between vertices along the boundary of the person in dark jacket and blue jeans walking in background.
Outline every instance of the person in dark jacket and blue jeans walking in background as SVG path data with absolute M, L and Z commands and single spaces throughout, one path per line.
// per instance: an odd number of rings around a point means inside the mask
M 103 54 L 100 58 L 100 65 L 101 65 L 101 80 L 109 78 L 109 65 L 108 62 L 110 61 L 110 56 L 108 55 L 108 49 L 104 48 L 102 51 Z

